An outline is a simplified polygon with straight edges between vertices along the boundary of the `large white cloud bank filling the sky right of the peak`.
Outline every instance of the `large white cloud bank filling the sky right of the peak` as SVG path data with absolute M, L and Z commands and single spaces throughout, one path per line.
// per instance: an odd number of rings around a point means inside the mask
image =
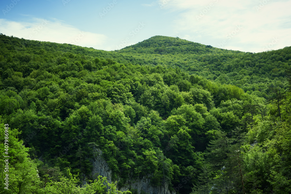
M 290 0 L 167 0 L 166 8 L 178 13 L 173 28 L 187 40 L 262 52 L 276 37 L 271 49 L 291 46 L 290 7 Z

